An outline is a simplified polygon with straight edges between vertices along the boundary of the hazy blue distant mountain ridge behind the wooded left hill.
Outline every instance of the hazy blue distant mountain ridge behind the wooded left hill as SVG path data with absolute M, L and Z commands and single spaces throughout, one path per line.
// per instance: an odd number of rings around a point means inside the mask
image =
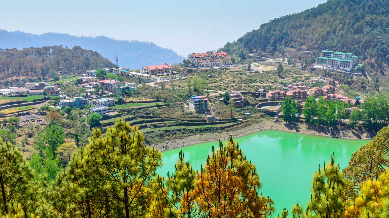
M 0 48 L 30 48 L 62 45 L 72 48 L 80 46 L 93 50 L 115 63 L 115 55 L 119 66 L 140 69 L 148 65 L 174 64 L 182 62 L 184 57 L 171 49 L 162 48 L 152 42 L 115 40 L 107 36 L 72 36 L 63 33 L 44 33 L 33 35 L 22 31 L 9 32 L 0 30 Z

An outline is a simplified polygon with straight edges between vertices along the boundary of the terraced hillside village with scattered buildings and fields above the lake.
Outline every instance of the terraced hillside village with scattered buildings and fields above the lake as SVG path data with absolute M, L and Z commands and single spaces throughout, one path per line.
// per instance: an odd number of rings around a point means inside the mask
M 323 51 L 322 57 L 326 55 L 329 57 L 337 54 Z M 30 116 L 29 114 L 44 115 L 49 113 L 50 109 L 66 111 L 68 114 L 72 114 L 69 111 L 81 109 L 84 112 L 77 113 L 85 119 L 92 114 L 100 117 L 97 119 L 98 124 L 89 123 L 90 127 L 98 125 L 100 128 L 108 128 L 114 121 L 123 118 L 132 125 L 138 125 L 146 134 L 155 135 L 158 131 L 167 132 L 182 128 L 203 131 L 206 128 L 245 126 L 248 121 L 257 122 L 259 117 L 278 121 L 278 117 L 282 117 L 281 104 L 288 97 L 299 102 L 301 111 L 310 96 L 315 99 L 323 97 L 325 101 L 342 101 L 346 106 L 345 119 L 349 118 L 357 105 L 364 103 L 359 96 L 347 96 L 341 92 L 339 81 L 321 75 L 301 77 L 304 79 L 302 81 L 277 79 L 278 84 L 242 85 L 239 89 L 227 84 L 226 87 L 231 90 L 226 90 L 220 85 L 212 85 L 217 84 L 212 83 L 213 77 L 268 77 L 268 74 L 275 74 L 279 67 L 269 64 L 282 63 L 284 67 L 289 66 L 282 59 L 273 59 L 266 62 L 267 65 L 262 64 L 261 67 L 265 68 L 260 71 L 251 67 L 249 69 L 244 64 L 235 64 L 235 60 L 226 52 L 207 51 L 187 56 L 188 59 L 179 65 L 171 66 L 165 63 L 145 66 L 140 70 L 126 67 L 94 69 L 75 77 L 62 76 L 58 81 L 26 82 L 23 87 L 3 87 L 0 89 L 3 96 L 0 113 L 5 118 L 19 116 L 23 119 L 23 116 Z M 317 64 L 324 64 L 322 58 L 317 58 Z M 356 64 L 353 62 L 352 67 L 355 67 L 354 65 Z M 293 66 L 290 67 L 286 69 L 292 72 Z M 200 83 L 205 82 L 198 81 L 202 80 L 207 72 L 214 72 L 213 76 L 209 73 L 206 75 L 209 78 L 208 85 L 198 87 Z M 273 82 L 275 81 L 274 79 Z M 243 88 L 246 86 L 251 87 L 251 90 Z M 176 94 L 170 95 L 171 92 L 189 92 L 189 95 L 174 99 L 172 97 Z M 49 108 L 44 112 L 43 107 L 47 106 Z M 180 116 L 180 113 L 185 116 Z

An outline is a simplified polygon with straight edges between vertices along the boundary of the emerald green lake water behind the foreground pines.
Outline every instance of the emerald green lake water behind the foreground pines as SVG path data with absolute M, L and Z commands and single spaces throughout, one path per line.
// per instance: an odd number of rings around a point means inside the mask
M 284 207 L 290 211 L 297 201 L 305 206 L 310 199 L 312 174 L 319 164 L 322 166 L 324 159 L 330 159 L 332 152 L 335 154 L 335 163 L 345 168 L 352 152 L 369 141 L 280 130 L 263 130 L 235 140 L 239 142 L 247 159 L 256 164 L 262 182 L 260 192 L 273 199 L 273 206 L 277 209 L 275 214 L 280 213 Z M 168 171 L 172 173 L 180 149 L 193 168 L 200 170 L 212 145 L 219 147 L 218 142 L 205 142 L 162 152 L 164 165 L 158 170 L 159 175 L 166 177 Z

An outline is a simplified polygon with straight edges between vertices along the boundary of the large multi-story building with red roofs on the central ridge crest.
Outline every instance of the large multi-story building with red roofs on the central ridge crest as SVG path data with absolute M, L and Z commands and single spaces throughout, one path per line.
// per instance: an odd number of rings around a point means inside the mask
M 222 61 L 222 60 L 226 61 Z M 231 59 L 227 55 L 227 52 L 212 52 L 207 53 L 195 53 L 188 55 L 188 60 L 192 62 L 192 66 L 195 67 L 210 67 L 210 66 L 221 66 L 224 64 L 231 64 Z

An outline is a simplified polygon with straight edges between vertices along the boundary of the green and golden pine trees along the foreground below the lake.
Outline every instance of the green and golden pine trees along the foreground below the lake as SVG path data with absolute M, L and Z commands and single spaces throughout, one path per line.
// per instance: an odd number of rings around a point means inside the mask
M 58 124 L 53 121 L 53 125 Z M 312 175 L 310 201 L 297 201 L 277 218 L 388 217 L 388 142 L 389 128 L 384 127 L 352 154 L 343 172 L 332 155 Z M 85 147 L 53 146 L 48 144 L 46 152 L 66 154 L 62 156 L 67 166 L 49 178 L 36 170 L 37 164 L 45 163 L 26 161 L 7 138 L 0 139 L 2 216 L 274 217 L 275 202 L 260 193 L 256 166 L 231 135 L 224 144 L 215 142 L 200 169 L 192 168 L 179 152 L 167 176 L 156 173 L 163 164 L 161 153 L 144 146 L 137 126 L 122 119 L 106 133 L 93 128 Z

